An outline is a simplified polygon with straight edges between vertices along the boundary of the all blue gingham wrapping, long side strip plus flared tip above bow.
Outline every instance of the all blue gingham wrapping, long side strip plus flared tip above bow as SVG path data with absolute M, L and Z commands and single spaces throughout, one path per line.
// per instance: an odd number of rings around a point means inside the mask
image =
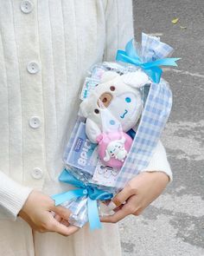
M 173 48 L 160 42 L 158 37 L 142 34 L 142 49 L 140 52 L 143 62 L 152 62 L 167 57 L 172 51 Z M 172 93 L 168 82 L 161 79 L 158 84 L 152 83 L 131 151 L 120 170 L 115 187 L 123 188 L 132 177 L 148 166 L 169 118 L 171 106 Z

